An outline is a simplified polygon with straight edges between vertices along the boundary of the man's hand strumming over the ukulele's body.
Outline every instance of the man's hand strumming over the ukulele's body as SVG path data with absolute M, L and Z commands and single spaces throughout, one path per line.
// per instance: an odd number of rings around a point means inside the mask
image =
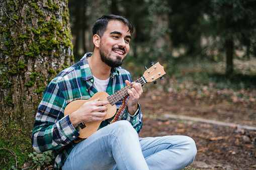
M 88 101 L 69 115 L 70 121 L 76 127 L 81 122 L 103 120 L 107 104 L 109 101 L 100 101 L 100 98 Z

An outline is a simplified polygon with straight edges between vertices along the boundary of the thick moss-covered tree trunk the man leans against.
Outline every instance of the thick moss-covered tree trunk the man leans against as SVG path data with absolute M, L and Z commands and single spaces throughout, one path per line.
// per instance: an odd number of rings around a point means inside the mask
M 32 129 L 46 85 L 73 63 L 67 1 L 0 4 L 0 127 Z

